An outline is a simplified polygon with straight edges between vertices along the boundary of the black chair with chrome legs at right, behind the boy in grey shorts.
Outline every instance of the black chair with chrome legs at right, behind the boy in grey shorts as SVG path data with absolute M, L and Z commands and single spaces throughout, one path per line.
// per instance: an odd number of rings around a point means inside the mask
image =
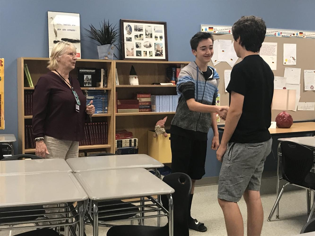
M 305 146 L 289 141 L 281 143 L 281 151 L 282 177 L 287 182 L 283 185 L 281 192 L 273 205 L 268 221 L 271 220 L 284 192 L 284 188 L 287 185 L 292 184 L 315 193 L 315 173 L 310 172 L 313 165 L 313 151 Z M 307 222 L 309 222 L 312 218 L 314 209 L 315 202 L 312 206 Z

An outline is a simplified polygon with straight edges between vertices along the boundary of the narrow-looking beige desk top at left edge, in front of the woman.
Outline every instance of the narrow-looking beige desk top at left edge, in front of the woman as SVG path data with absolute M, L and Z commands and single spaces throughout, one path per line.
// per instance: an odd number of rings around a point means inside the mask
M 72 172 L 72 170 L 61 158 L 0 161 L 0 175 L 43 172 Z

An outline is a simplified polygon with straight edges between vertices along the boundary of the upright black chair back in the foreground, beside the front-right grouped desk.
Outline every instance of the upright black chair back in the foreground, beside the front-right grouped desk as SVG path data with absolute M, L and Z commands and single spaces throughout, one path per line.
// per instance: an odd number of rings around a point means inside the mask
M 172 173 L 163 177 L 163 182 L 174 188 L 173 198 L 173 222 L 174 236 L 189 235 L 188 229 L 188 202 L 192 189 L 192 180 L 184 173 Z M 168 199 L 161 196 L 162 204 L 166 210 L 169 209 Z

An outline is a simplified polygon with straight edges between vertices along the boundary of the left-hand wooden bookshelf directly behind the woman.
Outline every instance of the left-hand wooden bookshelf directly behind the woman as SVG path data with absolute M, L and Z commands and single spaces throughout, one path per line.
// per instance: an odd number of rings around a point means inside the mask
M 18 74 L 18 153 L 34 153 L 35 149 L 25 149 L 25 125 L 31 125 L 32 115 L 24 115 L 24 91 L 34 90 L 34 87 L 25 87 L 24 85 L 24 64 L 26 63 L 31 74 L 33 85 L 35 86 L 39 77 L 46 74 L 47 62 L 49 58 L 31 58 L 21 57 L 17 60 Z M 113 60 L 94 60 L 94 59 L 77 59 L 76 68 L 70 72 L 72 78 L 77 78 L 77 67 L 94 67 L 107 69 L 107 85 L 106 88 L 82 87 L 82 90 L 106 90 L 108 91 L 108 113 L 94 114 L 92 122 L 108 123 L 108 143 L 103 145 L 79 146 L 80 150 L 85 149 L 106 149 L 107 152 L 114 152 L 114 61 Z

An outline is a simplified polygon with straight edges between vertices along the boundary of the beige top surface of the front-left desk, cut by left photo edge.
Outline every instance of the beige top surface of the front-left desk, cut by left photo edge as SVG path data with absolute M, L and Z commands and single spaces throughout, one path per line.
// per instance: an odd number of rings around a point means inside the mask
M 0 208 L 83 201 L 88 198 L 69 172 L 0 176 Z

